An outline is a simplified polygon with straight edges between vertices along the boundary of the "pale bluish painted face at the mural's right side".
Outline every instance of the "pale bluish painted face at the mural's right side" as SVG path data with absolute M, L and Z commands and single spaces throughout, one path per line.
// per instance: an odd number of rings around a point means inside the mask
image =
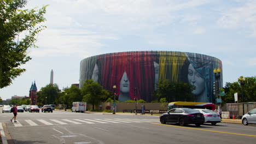
M 202 79 L 191 64 L 189 64 L 188 68 L 188 81 L 191 85 L 195 86 L 193 94 L 199 95 L 205 91 L 205 80 Z

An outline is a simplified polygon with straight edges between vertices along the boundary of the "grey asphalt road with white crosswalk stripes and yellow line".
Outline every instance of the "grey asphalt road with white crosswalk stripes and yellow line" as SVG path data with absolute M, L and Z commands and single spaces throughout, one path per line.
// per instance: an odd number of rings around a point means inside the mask
M 218 123 L 161 124 L 158 116 L 102 115 L 102 113 L 0 113 L 14 143 L 255 143 L 256 127 Z

